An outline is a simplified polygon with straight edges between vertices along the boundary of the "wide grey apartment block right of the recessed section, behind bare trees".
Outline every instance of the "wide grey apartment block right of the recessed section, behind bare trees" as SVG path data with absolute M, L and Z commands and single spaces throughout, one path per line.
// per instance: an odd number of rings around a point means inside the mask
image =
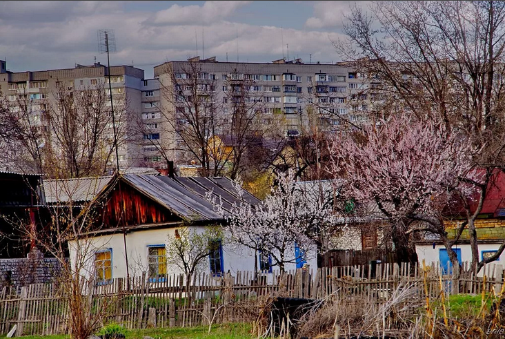
M 190 75 L 188 70 L 196 74 Z M 301 59 L 236 63 L 220 62 L 215 57 L 169 61 L 155 66 L 155 77 L 161 86 L 159 105 L 165 112 L 181 109 L 177 101 L 183 100 L 170 95 L 190 95 L 181 86 L 189 77 L 197 77 L 199 86 L 211 84 L 215 91 L 212 100 L 217 103 L 229 100 L 233 87 L 247 83 L 250 97 L 246 101 L 261 101 L 265 126 L 280 122 L 286 137 L 297 137 L 310 128 L 333 131 L 346 122 L 362 122 L 364 113 L 373 106 L 369 90 L 375 80 L 344 63 L 304 64 Z M 156 137 L 172 146 L 180 142 L 173 130 L 159 127 Z M 173 157 L 177 162 L 177 153 Z

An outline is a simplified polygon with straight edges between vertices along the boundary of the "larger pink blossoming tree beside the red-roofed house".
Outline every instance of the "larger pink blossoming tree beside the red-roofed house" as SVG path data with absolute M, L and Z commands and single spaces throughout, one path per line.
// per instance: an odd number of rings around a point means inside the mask
M 399 261 L 415 262 L 410 235 L 429 231 L 442 238 L 457 264 L 442 209 L 453 192 L 468 196 L 472 189 L 461 184 L 475 152 L 468 139 L 434 120 L 397 115 L 354 134 L 337 133 L 330 148 L 330 171 L 346 179 L 344 191 L 357 202 L 375 203 L 390 224 L 383 231 Z

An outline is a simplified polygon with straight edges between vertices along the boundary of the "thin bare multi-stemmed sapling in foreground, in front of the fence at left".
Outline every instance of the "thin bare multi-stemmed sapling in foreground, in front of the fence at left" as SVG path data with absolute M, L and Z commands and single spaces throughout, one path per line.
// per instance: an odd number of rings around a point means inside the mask
M 105 195 L 90 202 L 74 202 L 79 180 L 69 184 L 66 180 L 55 180 L 46 185 L 47 195 L 57 201 L 40 213 L 37 228 L 22 220 L 9 220 L 21 235 L 33 241 L 43 253 L 54 257 L 59 263 L 55 283 L 61 296 L 68 302 L 69 316 L 66 325 L 71 338 L 89 338 L 110 315 L 110 307 L 117 302 L 111 296 L 103 296 L 93 302 L 99 272 L 95 270 L 95 244 L 89 236 L 103 224 L 100 213 Z M 89 186 L 88 195 L 96 193 Z M 8 236 L 3 234 L 2 236 Z M 69 258 L 69 252 L 72 253 Z M 103 277 L 102 277 L 103 278 Z

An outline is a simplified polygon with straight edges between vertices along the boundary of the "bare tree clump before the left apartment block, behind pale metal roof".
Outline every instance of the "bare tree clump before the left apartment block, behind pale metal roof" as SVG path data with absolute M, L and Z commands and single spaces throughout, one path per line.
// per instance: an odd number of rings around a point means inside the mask
M 80 92 L 68 91 L 61 82 L 46 102 L 43 117 L 47 124 L 46 162 L 63 160 L 64 166 L 47 166 L 58 172 L 53 177 L 82 177 L 106 173 L 110 166 L 114 139 L 111 133 L 110 101 L 104 84 Z M 126 135 L 127 103 L 124 95 L 115 98 L 118 146 Z

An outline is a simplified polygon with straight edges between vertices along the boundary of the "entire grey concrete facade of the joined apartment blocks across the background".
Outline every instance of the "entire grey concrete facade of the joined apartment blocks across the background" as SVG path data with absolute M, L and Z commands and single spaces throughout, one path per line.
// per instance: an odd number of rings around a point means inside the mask
M 346 64 L 304 64 L 300 59 L 237 63 L 195 57 L 155 66 L 155 79 L 144 79 L 143 70 L 133 66 L 111 66 L 112 94 L 124 95 L 132 114 L 128 121 L 120 122 L 128 124 L 130 131 L 119 148 L 121 168 L 166 168 L 167 160 L 174 160 L 177 166 L 190 165 L 188 151 L 181 151 L 183 143 L 173 124 L 167 121 L 170 112 L 177 109 L 175 100 L 168 98 L 167 88 L 173 89 L 174 76 L 184 75 L 195 65 L 201 77 L 199 82 L 212 82 L 218 102 L 230 97 L 231 86 L 247 81 L 251 85 L 250 95 L 261 101 L 264 126 L 280 123 L 279 133 L 285 137 L 297 137 L 314 126 L 318 130 L 337 130 L 344 120 L 359 123 L 364 113 L 373 108 L 371 95 L 367 93 L 373 88 L 374 79 Z M 0 92 L 10 100 L 15 100 L 16 95 L 30 96 L 34 122 L 43 125 L 43 101 L 54 99 L 58 82 L 75 93 L 93 88 L 97 82 L 105 84 L 108 91 L 107 72 L 108 68 L 99 63 L 68 69 L 9 72 L 6 62 L 0 61 Z M 163 157 L 159 151 L 161 146 L 173 151 L 165 151 Z M 115 164 L 115 153 L 110 163 Z

